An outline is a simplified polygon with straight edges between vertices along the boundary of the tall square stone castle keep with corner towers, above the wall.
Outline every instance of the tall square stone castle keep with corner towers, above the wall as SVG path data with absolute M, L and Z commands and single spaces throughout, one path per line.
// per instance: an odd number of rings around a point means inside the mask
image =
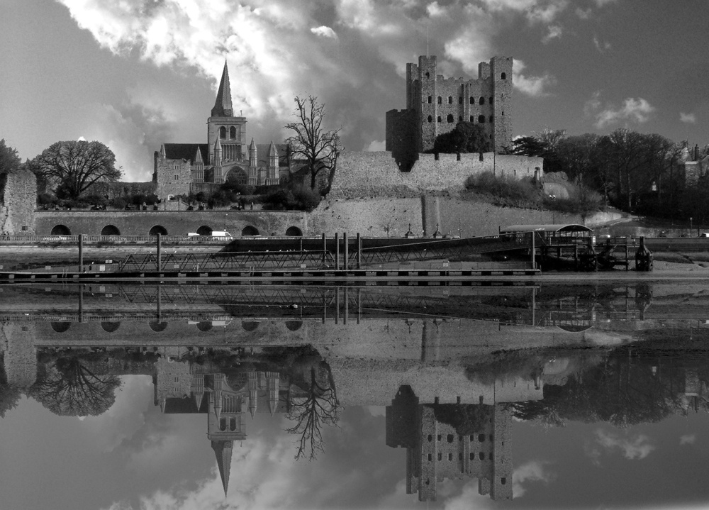
M 512 57 L 480 62 L 477 79 L 437 74 L 435 55 L 406 65 L 406 109 L 386 112 L 386 150 L 411 165 L 461 121 L 481 125 L 493 150 L 512 142 Z

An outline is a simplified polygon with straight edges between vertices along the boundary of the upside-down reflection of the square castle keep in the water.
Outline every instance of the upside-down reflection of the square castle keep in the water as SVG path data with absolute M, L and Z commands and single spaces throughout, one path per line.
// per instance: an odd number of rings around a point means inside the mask
M 480 494 L 512 499 L 510 424 L 505 404 L 419 404 L 402 387 L 386 407 L 386 445 L 406 448 L 406 494 L 419 501 L 436 500 L 437 482 L 463 477 L 477 478 Z

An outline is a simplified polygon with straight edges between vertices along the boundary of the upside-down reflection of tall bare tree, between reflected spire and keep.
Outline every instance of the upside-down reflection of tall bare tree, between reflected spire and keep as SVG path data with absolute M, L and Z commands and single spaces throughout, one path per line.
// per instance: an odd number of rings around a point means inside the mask
M 303 383 L 301 394 L 289 396 L 286 416 L 295 421 L 295 425 L 286 431 L 300 436 L 296 460 L 306 456 L 313 460 L 318 452 L 324 451 L 323 425 L 337 426 L 342 408 L 327 365 L 311 366 Z

